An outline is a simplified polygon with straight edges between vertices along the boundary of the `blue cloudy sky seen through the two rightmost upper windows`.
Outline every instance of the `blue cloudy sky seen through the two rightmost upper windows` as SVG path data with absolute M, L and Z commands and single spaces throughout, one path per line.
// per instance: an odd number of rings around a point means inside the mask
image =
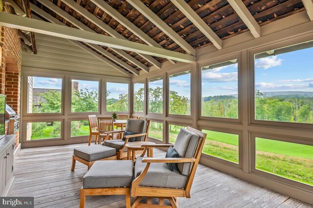
M 255 60 L 261 92 L 313 92 L 313 48 Z M 202 96 L 238 94 L 237 64 L 202 71 Z

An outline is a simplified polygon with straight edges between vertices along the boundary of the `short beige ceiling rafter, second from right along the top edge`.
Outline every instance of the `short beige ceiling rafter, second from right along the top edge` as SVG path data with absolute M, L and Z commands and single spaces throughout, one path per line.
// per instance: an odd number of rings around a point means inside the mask
M 250 32 L 254 36 L 254 38 L 261 37 L 261 28 L 260 25 L 256 22 L 253 18 L 249 10 L 246 8 L 246 5 L 242 0 L 227 0 L 231 7 L 235 10 L 238 14 L 240 19 L 246 24 L 249 28 Z

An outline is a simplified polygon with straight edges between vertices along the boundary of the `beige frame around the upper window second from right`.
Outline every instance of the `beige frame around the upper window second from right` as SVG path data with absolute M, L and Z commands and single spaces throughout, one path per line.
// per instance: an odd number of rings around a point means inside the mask
M 215 65 L 223 62 L 227 62 L 230 60 L 237 59 L 237 73 L 238 73 L 238 118 L 222 118 L 222 117 L 210 117 L 210 116 L 202 116 L 202 67 L 205 66 L 210 66 L 210 65 Z M 199 89 L 199 94 L 198 94 L 198 117 L 199 120 L 203 121 L 213 121 L 213 122 L 224 122 L 224 123 L 237 123 L 237 124 L 242 124 L 242 107 L 243 107 L 243 69 L 242 69 L 242 53 L 236 53 L 234 55 L 230 56 L 225 56 L 225 57 L 220 57 L 220 58 L 215 58 L 210 61 L 204 61 L 199 63 L 198 65 L 198 77 L 199 77 L 199 83 L 198 83 L 198 89 Z

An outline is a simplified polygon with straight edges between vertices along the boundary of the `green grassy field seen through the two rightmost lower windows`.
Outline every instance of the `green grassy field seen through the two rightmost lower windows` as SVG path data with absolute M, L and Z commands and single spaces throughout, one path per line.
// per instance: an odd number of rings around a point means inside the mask
M 238 135 L 206 131 L 203 153 L 235 163 Z M 313 146 L 256 138 L 256 168 L 292 180 L 313 185 Z

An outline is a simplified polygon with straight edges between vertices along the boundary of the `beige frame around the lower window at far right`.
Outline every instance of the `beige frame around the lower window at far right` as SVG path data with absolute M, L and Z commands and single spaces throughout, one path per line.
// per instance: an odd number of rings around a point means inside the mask
M 263 177 L 270 178 L 275 181 L 279 181 L 285 184 L 289 184 L 291 186 L 299 187 L 301 189 L 311 190 L 313 191 L 313 185 L 308 185 L 299 181 L 295 181 L 284 176 L 279 176 L 274 173 L 269 173 L 263 170 L 256 169 L 256 137 L 277 140 L 283 142 L 290 142 L 295 144 L 303 144 L 313 146 L 313 140 L 310 138 L 304 137 L 295 137 L 295 136 L 282 136 L 279 134 L 270 134 L 270 133 L 260 133 L 260 132 L 249 132 L 249 150 L 250 150 L 250 173 L 260 175 Z

